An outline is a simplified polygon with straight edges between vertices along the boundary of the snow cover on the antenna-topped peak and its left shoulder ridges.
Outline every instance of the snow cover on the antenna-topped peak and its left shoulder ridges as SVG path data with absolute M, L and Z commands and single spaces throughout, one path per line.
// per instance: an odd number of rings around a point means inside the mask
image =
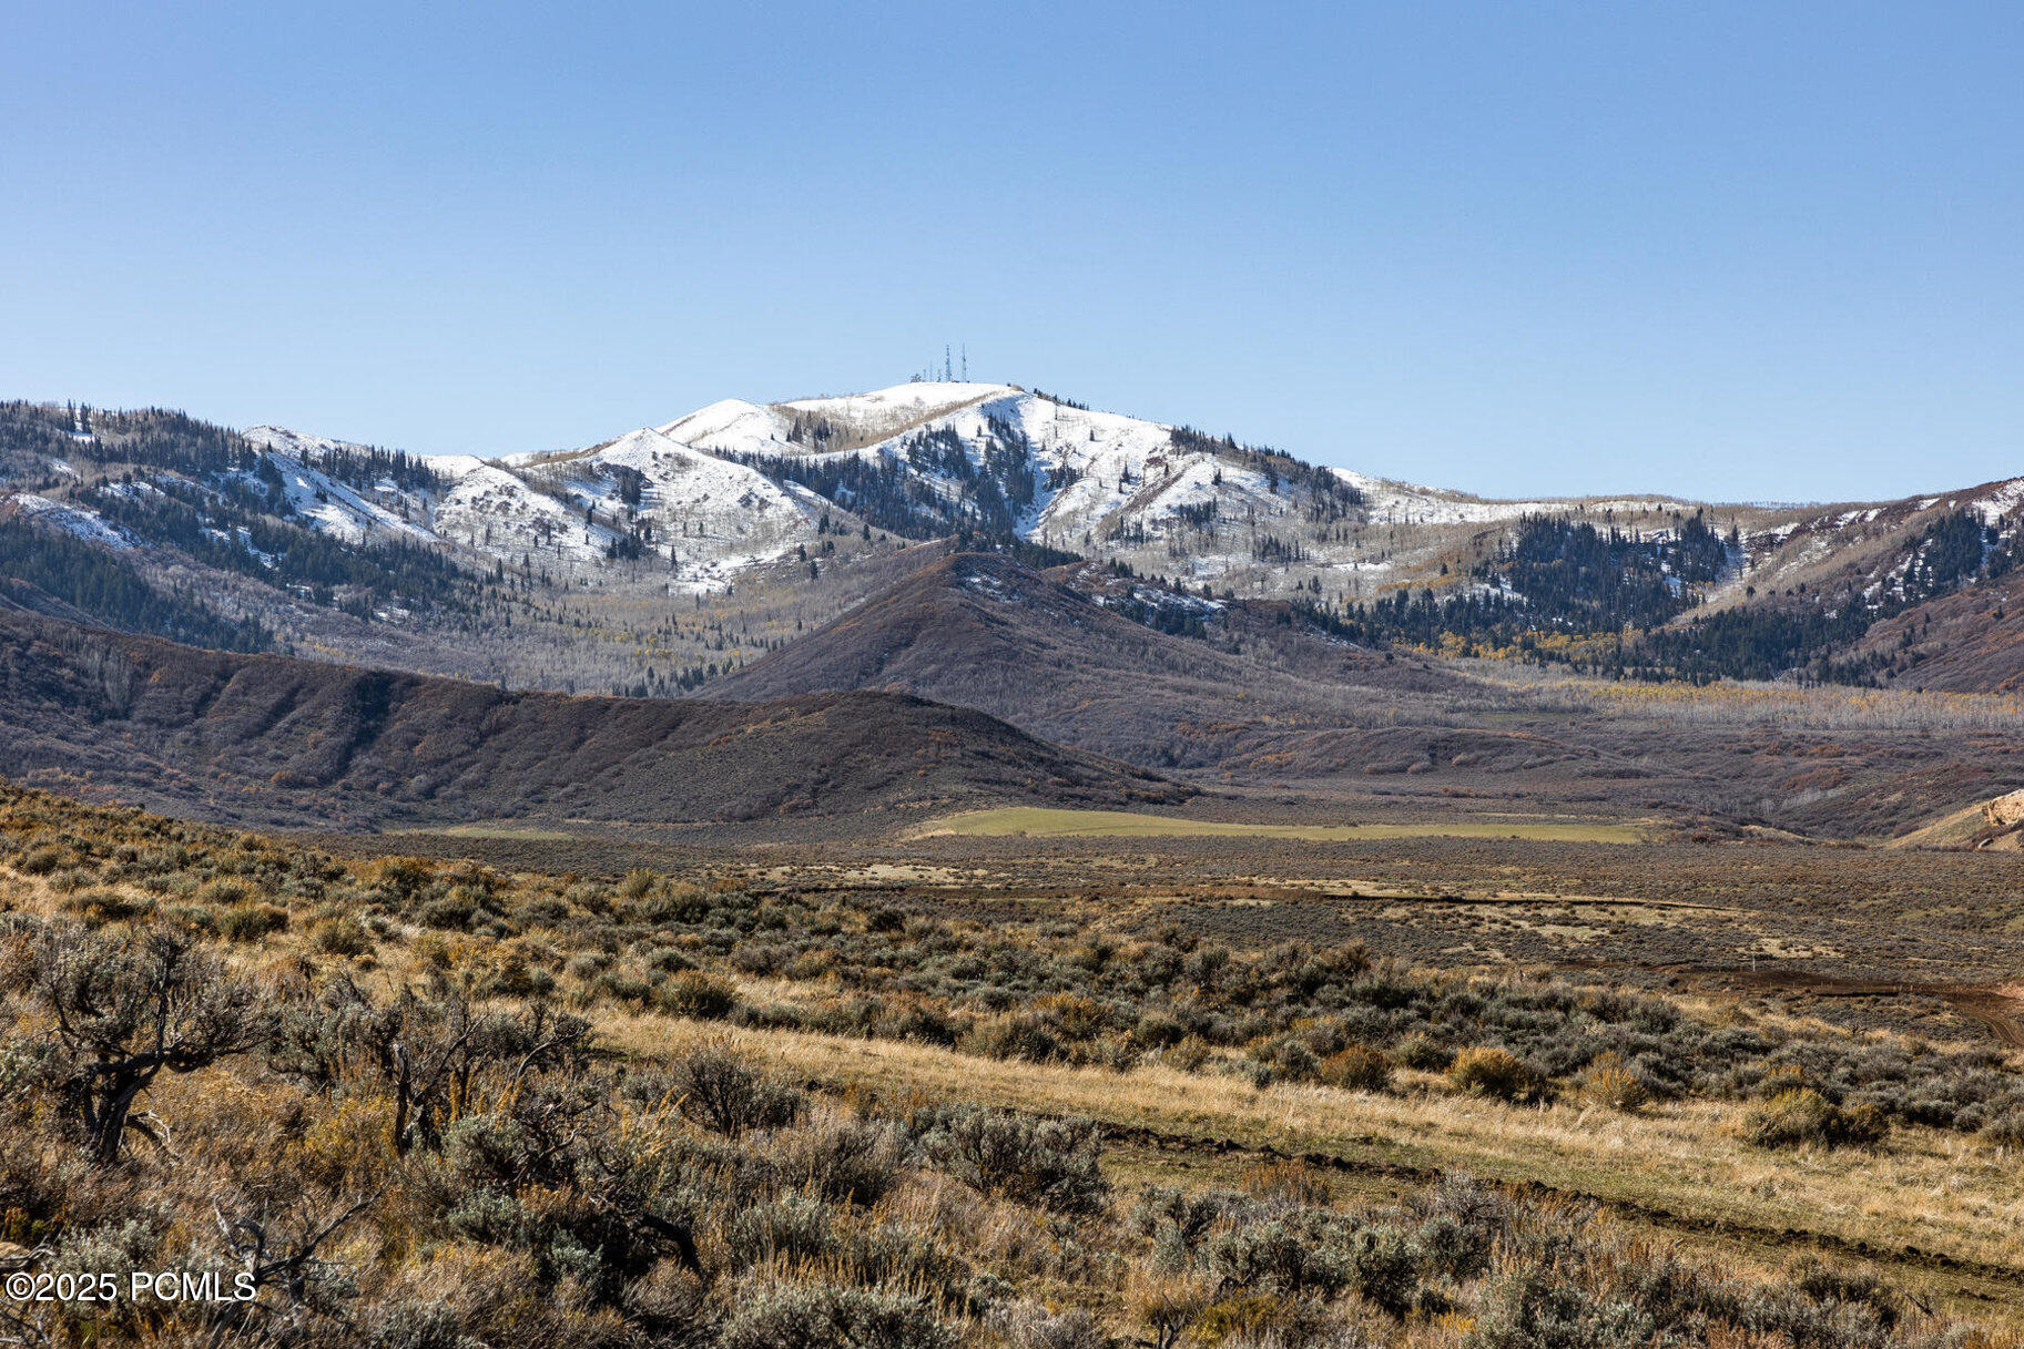
M 318 451 L 358 449 L 275 427 L 249 435 L 304 467 Z M 812 461 L 812 483 L 840 481 L 816 465 L 860 459 L 899 473 L 911 500 L 927 504 L 923 528 L 974 520 L 990 502 L 1034 542 L 1192 580 L 1245 574 L 1265 591 L 1326 576 L 1326 593 L 1364 595 L 1423 574 L 1453 546 L 1445 526 L 1694 510 L 1670 498 L 1486 502 L 1348 469 L 1310 471 L 1014 384 L 923 380 L 773 404 L 725 398 L 579 451 L 431 461 L 451 481 L 441 500 L 405 514 L 417 522 L 409 528 L 508 566 L 546 562 L 581 574 L 623 556 L 638 572 L 660 558 L 670 578 L 716 589 L 818 542 L 826 512 L 832 522 L 856 520 L 846 489 L 824 487 L 840 498 L 826 500 L 767 477 L 751 467 L 757 459 Z M 1360 491 L 1362 508 L 1352 510 L 1336 483 Z M 354 502 L 326 489 L 316 510 L 293 479 L 289 493 L 318 528 L 344 536 L 401 524 L 378 493 Z

